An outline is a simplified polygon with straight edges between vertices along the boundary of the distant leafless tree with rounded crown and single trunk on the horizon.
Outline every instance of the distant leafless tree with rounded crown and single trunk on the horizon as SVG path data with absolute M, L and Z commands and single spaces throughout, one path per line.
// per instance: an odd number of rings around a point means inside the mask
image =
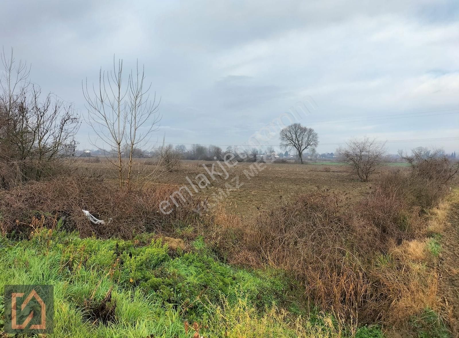
M 303 164 L 303 151 L 308 148 L 315 148 L 319 144 L 319 136 L 308 127 L 303 127 L 300 123 L 293 123 L 280 131 L 280 147 L 284 149 L 295 148 Z

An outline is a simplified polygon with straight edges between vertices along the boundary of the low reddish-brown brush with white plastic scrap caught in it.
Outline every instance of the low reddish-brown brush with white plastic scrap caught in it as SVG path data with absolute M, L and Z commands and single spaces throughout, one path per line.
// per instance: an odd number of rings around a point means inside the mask
M 45 215 L 45 226 L 62 220 L 65 229 L 78 230 L 82 236 L 119 236 L 131 238 L 143 231 L 168 231 L 173 221 L 195 217 L 199 203 L 188 199 L 174 212 L 164 215 L 159 203 L 177 190 L 174 185 L 149 189 L 119 190 L 101 179 L 61 177 L 50 181 L 0 191 L 0 226 L 3 233 L 30 229 L 34 216 Z M 105 224 L 93 224 L 81 209 L 88 210 Z

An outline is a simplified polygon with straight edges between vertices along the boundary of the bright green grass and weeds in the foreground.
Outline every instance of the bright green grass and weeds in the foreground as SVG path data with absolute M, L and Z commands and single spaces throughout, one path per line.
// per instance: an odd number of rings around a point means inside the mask
M 161 240 L 140 246 L 147 238 L 47 229 L 18 242 L 0 237 L 0 289 L 54 285 L 56 337 L 193 337 L 194 322 L 204 337 L 338 337 L 331 316 L 300 310 L 300 289 L 284 273 L 219 262 L 202 238 L 174 254 Z M 91 309 L 109 290 L 115 318 L 104 323 Z

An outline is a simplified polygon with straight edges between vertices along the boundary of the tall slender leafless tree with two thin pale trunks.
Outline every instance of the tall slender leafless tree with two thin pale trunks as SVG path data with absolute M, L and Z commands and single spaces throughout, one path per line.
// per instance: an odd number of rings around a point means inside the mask
M 119 187 L 132 184 L 134 148 L 145 148 L 150 144 L 151 136 L 159 124 L 156 93 L 150 98 L 151 84 L 145 83 L 145 72 L 137 64 L 135 73 L 130 72 L 127 82 L 123 82 L 123 60 L 118 60 L 118 67 L 113 58 L 111 71 L 99 71 L 99 84 L 88 88 L 88 81 L 82 84 L 87 102 L 87 122 L 96 134 L 91 140 L 98 149 L 114 149 L 107 159 L 118 169 Z M 123 146 L 129 151 L 129 160 L 125 164 Z M 113 160 L 116 155 L 116 160 Z M 127 174 L 125 171 L 127 170 Z

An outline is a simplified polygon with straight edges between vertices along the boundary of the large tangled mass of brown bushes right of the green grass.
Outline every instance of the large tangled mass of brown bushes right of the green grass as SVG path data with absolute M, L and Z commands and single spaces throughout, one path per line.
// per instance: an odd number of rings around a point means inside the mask
M 416 172 L 396 171 L 358 205 L 315 191 L 275 201 L 252 222 L 220 210 L 213 231 L 230 262 L 289 271 L 305 287 L 305 299 L 322 310 L 353 323 L 396 323 L 435 304 L 435 275 L 412 259 L 425 252 L 407 243 L 424 241 L 423 208 L 444 192 Z

